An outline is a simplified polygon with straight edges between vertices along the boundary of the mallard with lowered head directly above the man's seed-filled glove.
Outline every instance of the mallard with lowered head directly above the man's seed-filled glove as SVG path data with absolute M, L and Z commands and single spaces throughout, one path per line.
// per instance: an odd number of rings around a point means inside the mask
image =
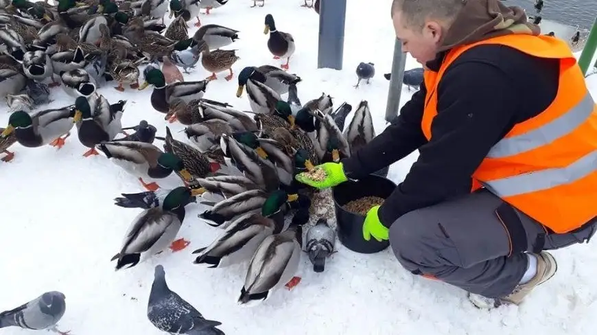
M 318 146 L 315 147 L 318 150 L 319 159 L 325 161 L 328 153 L 331 153 L 331 160 L 336 163 L 342 158 L 350 157 L 349 143 L 331 115 L 317 110 L 315 111 L 315 117 L 320 120 L 320 126 L 317 130 Z

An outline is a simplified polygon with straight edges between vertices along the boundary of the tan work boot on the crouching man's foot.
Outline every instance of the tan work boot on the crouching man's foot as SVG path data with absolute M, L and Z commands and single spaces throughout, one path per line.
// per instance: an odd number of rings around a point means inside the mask
M 548 281 L 548 279 L 553 277 L 558 270 L 556 259 L 550 253 L 541 251 L 539 255 L 532 255 L 537 257 L 537 274 L 530 279 L 530 281 L 516 286 L 511 294 L 499 299 L 487 298 L 482 297 L 479 294 L 469 293 L 469 300 L 471 303 L 482 309 L 495 308 L 504 304 L 519 305 L 522 303 L 524 297 L 526 297 L 533 288 Z

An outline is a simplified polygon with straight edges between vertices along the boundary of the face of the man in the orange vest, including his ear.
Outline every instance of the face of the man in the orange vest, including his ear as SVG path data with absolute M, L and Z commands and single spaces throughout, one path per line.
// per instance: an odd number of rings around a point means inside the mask
M 403 52 L 408 52 L 423 66 L 428 61 L 435 59 L 441 36 L 441 26 L 438 23 L 425 22 L 422 30 L 418 28 L 413 30 L 406 26 L 401 11 L 394 13 L 393 21 L 396 37 L 402 41 Z

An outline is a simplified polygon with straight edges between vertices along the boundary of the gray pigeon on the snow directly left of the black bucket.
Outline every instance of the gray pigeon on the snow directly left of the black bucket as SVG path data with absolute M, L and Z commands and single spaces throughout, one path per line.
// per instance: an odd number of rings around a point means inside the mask
M 309 228 L 305 240 L 307 240 L 306 249 L 309 260 L 313 264 L 313 270 L 316 273 L 323 272 L 325 258 L 333 253 L 336 232 L 329 227 L 324 218 L 320 218 L 313 227 Z

